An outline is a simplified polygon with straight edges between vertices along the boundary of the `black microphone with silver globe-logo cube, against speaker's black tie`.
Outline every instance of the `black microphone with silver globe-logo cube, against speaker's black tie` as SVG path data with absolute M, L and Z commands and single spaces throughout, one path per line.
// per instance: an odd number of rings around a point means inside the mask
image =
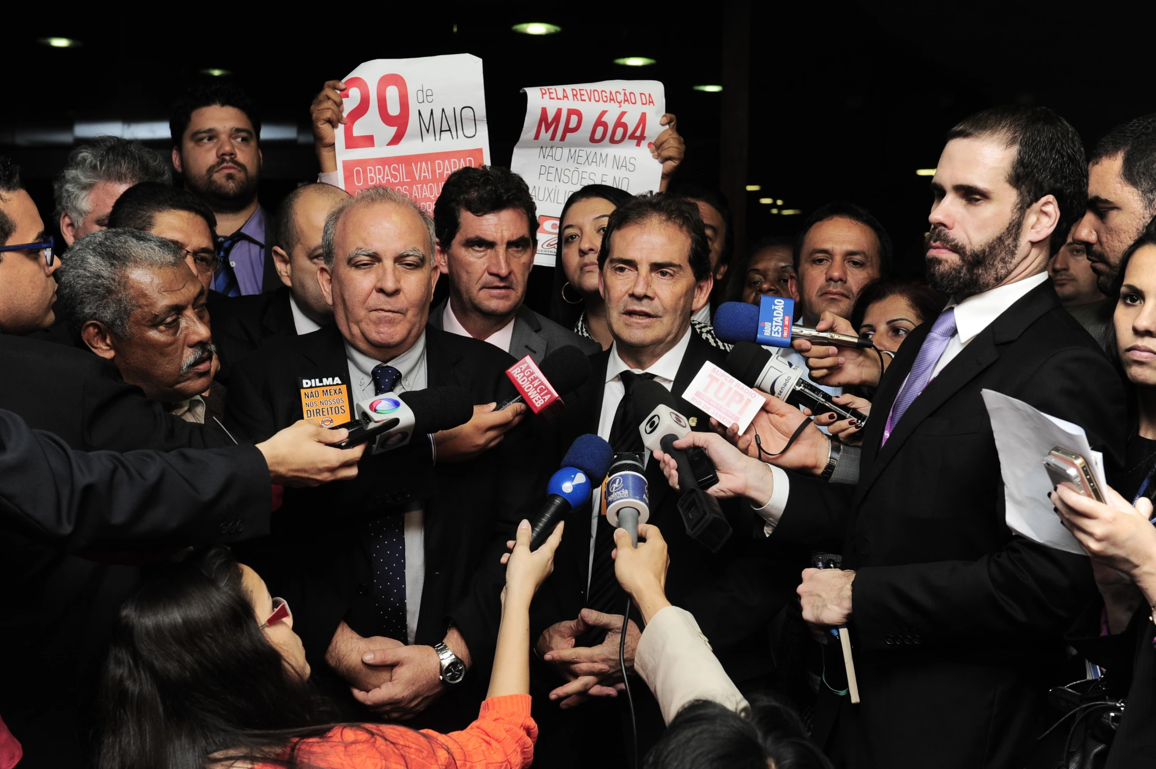
M 682 491 L 679 513 L 682 514 L 687 533 L 717 553 L 731 537 L 731 524 L 722 515 L 718 500 L 707 494 L 698 483 L 689 453 L 674 448 L 674 441 L 690 432 L 690 424 L 679 413 L 674 395 L 653 380 L 635 384 L 633 397 L 638 411 L 646 415 L 638 426 L 643 445 L 651 451 L 662 450 L 679 465 L 679 488 Z M 714 466 L 710 457 L 704 451 L 699 454 L 710 463 L 713 473 Z

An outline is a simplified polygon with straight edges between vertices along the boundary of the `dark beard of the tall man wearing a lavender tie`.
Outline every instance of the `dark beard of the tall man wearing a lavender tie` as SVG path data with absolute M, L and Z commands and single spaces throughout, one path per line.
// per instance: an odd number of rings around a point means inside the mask
M 956 300 L 973 297 L 998 286 L 1011 274 L 1020 261 L 1020 231 L 1027 211 L 1020 211 L 1003 232 L 987 242 L 969 248 L 951 234 L 933 226 L 924 239 L 924 253 L 932 242 L 939 242 L 959 257 L 958 262 L 946 262 L 938 256 L 927 257 L 927 283 L 936 291 L 955 297 Z

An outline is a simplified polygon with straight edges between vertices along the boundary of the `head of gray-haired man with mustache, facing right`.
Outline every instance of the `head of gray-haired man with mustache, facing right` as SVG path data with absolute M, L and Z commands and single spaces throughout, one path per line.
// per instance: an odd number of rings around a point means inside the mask
M 213 383 L 207 292 L 171 241 L 136 230 L 79 240 L 60 270 L 72 333 L 129 384 L 185 421 L 203 423 Z

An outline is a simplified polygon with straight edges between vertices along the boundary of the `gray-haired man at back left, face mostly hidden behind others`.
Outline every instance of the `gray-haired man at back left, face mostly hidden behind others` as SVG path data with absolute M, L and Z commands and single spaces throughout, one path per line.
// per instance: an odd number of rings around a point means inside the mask
M 172 184 L 172 174 L 160 152 L 138 141 L 97 136 L 73 149 L 53 184 L 65 242 L 108 227 L 120 193 L 141 181 Z

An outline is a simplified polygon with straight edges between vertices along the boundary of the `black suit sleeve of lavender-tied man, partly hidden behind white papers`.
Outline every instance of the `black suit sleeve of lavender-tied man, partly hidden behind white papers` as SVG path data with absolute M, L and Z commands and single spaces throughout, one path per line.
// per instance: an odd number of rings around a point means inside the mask
M 1031 394 L 1031 405 L 1082 426 L 1105 464 L 1118 466 L 1124 396 L 1098 351 L 1061 350 L 1025 380 L 1021 391 Z M 1095 595 L 1087 558 L 1013 537 L 976 561 L 862 568 L 852 583 L 852 613 L 865 648 L 885 648 L 895 635 L 935 645 L 1009 645 L 1062 635 Z

